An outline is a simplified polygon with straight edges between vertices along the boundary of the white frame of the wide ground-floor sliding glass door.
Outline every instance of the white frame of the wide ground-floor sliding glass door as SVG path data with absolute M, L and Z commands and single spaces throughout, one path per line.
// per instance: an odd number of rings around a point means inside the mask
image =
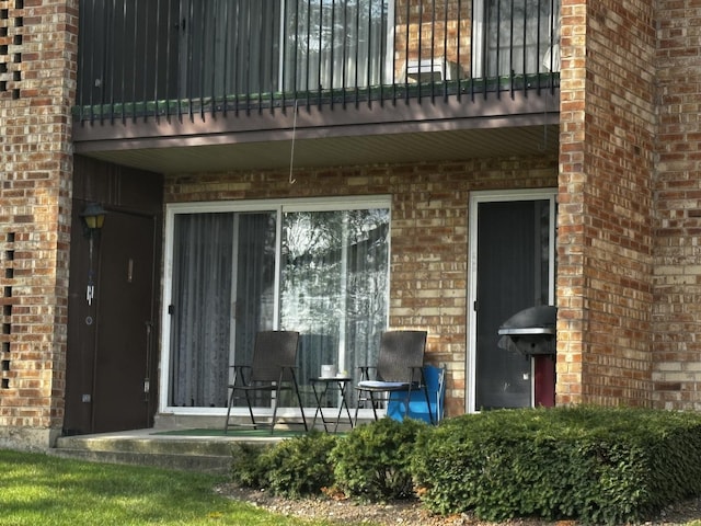
M 276 211 L 277 220 L 277 248 L 275 253 L 275 297 L 279 297 L 279 277 L 280 277 L 280 233 L 281 233 L 281 216 L 287 211 L 342 211 L 371 208 L 386 208 L 390 211 L 390 231 L 391 231 L 391 196 L 390 195 L 370 195 L 354 197 L 314 197 L 314 198 L 297 198 L 297 199 L 260 199 L 260 201 L 226 201 L 209 203 L 174 203 L 165 206 L 165 242 L 163 252 L 163 285 L 161 290 L 161 351 L 160 351 L 160 381 L 159 381 L 159 413 L 173 415 L 203 415 L 203 416 L 225 416 L 227 408 L 183 408 L 169 405 L 168 393 L 169 371 L 171 366 L 171 316 L 169 315 L 169 306 L 172 305 L 172 285 L 173 285 L 173 228 L 175 216 L 179 214 L 207 214 L 207 213 L 242 213 L 242 211 Z M 391 239 L 388 245 L 391 254 Z M 391 255 L 390 255 L 391 258 Z M 388 261 L 388 264 L 390 261 Z M 391 272 L 391 266 L 389 272 Z M 387 297 L 389 298 L 389 282 Z M 279 302 L 275 301 L 275 323 L 279 322 Z M 389 305 L 389 302 L 388 302 Z M 386 325 L 389 324 L 389 309 L 387 312 Z M 369 364 L 374 365 L 374 364 Z M 349 389 L 347 396 L 353 396 Z M 313 415 L 315 408 L 304 408 L 307 416 Z M 256 408 L 256 414 L 261 416 L 272 415 L 273 410 L 267 408 Z M 248 415 L 248 408 L 232 408 L 233 416 Z M 281 418 L 299 418 L 299 409 L 279 408 L 278 415 Z M 358 416 L 367 419 L 372 415 L 371 409 L 360 409 Z

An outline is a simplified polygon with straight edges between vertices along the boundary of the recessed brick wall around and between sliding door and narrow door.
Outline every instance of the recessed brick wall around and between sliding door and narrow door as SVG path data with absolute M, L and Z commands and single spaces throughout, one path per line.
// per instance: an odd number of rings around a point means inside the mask
M 391 194 L 390 327 L 428 330 L 428 357 L 447 364 L 447 411 L 464 412 L 468 202 L 475 190 L 554 187 L 556 159 L 378 165 L 165 179 L 166 203 Z

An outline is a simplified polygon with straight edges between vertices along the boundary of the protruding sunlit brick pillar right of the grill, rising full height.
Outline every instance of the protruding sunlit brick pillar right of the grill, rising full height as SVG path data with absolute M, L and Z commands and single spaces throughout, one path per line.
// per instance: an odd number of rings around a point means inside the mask
M 652 7 L 562 1 L 558 403 L 652 401 Z

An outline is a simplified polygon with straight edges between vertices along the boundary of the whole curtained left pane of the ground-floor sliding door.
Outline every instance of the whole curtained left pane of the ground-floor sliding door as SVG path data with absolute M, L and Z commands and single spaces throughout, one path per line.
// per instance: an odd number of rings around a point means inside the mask
M 273 329 L 276 217 L 175 216 L 171 405 L 226 407 L 229 365 L 250 364 Z

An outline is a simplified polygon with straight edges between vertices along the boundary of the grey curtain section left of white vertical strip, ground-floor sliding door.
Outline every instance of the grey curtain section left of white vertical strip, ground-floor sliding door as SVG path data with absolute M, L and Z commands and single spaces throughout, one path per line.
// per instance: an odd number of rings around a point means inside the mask
M 232 242 L 233 214 L 175 218 L 171 405 L 226 405 Z

